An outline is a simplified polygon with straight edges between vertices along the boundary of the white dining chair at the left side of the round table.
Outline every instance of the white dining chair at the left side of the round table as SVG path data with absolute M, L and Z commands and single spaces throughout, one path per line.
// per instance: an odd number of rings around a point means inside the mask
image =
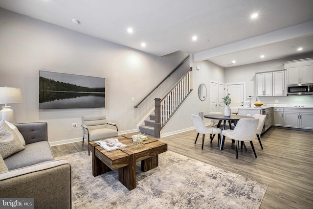
M 203 143 L 204 143 L 204 136 L 205 134 L 210 134 L 210 139 L 212 142 L 213 138 L 212 138 L 212 134 L 218 134 L 218 143 L 221 141 L 221 133 L 222 130 L 220 128 L 216 128 L 216 127 L 212 127 L 212 126 L 205 126 L 205 124 L 203 123 L 202 119 L 200 116 L 198 115 L 191 115 L 191 118 L 194 122 L 196 131 L 198 132 L 197 134 L 197 138 L 195 141 L 195 144 L 197 143 L 197 139 L 199 137 L 199 134 L 202 134 L 202 148 L 203 149 Z

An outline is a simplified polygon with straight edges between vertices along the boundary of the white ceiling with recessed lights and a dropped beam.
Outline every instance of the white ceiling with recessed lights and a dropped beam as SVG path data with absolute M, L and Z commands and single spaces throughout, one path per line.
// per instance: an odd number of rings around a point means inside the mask
M 313 0 L 0 0 L 0 7 L 157 56 L 181 50 L 222 67 L 313 52 Z

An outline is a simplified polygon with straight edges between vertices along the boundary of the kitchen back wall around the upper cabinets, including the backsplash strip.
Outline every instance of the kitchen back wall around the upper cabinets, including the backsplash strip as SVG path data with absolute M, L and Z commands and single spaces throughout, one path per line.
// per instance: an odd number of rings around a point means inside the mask
M 246 95 L 256 95 L 256 72 L 284 69 L 283 62 L 313 57 L 313 54 L 299 54 L 298 56 L 259 62 L 249 65 L 225 68 L 225 82 L 246 82 Z M 289 96 L 260 96 L 264 104 L 311 104 L 313 95 L 289 95 Z M 275 103 L 275 100 L 278 103 Z

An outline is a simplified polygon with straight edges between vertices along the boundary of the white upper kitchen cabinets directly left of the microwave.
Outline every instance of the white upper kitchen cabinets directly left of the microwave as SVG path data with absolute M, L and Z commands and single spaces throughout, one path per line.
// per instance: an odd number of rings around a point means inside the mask
M 256 73 L 257 96 L 285 96 L 285 70 Z

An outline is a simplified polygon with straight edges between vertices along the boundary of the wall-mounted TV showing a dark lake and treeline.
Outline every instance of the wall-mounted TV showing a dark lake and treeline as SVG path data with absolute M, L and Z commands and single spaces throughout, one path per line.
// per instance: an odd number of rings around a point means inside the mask
M 105 78 L 39 71 L 39 109 L 105 107 Z

